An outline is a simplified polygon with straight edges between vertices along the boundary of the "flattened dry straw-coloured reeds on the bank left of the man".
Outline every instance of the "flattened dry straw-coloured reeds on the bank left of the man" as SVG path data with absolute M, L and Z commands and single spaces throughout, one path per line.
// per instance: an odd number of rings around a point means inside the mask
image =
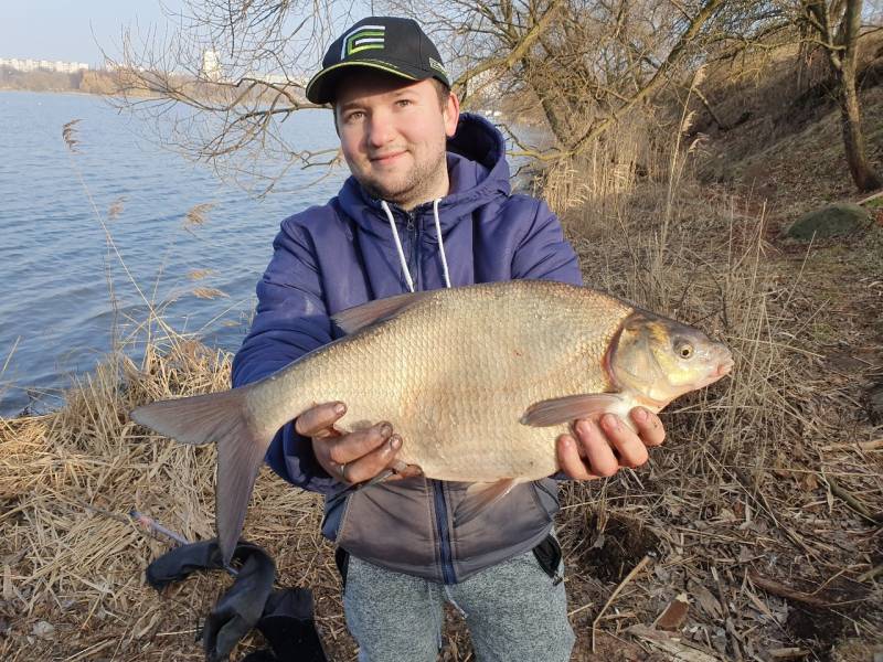
M 214 449 L 145 436 L 127 418 L 139 403 L 228 387 L 230 356 L 184 341 L 152 345 L 141 365 L 113 356 L 67 394 L 61 410 L 0 423 L 0 659 L 199 659 L 201 618 L 228 585 L 221 574 L 158 596 L 143 581 L 166 549 L 128 521 L 149 513 L 190 540 L 213 536 Z M 323 630 L 337 589 L 316 536 L 315 495 L 270 472 L 258 481 L 248 535 L 273 551 L 280 581 L 317 591 Z M 332 600 L 337 608 L 336 599 Z M 34 636 L 40 621 L 54 633 Z M 6 628 L 0 629 L 0 631 Z

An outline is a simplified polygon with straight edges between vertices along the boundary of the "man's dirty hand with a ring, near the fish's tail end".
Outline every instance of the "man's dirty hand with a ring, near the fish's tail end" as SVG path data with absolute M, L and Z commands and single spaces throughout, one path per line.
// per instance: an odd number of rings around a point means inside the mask
M 341 482 L 359 483 L 396 465 L 402 437 L 393 433 L 392 426 L 381 421 L 363 430 L 341 434 L 334 424 L 345 413 L 343 403 L 325 403 L 307 409 L 295 421 L 299 435 L 312 438 L 312 451 L 322 469 Z M 407 466 L 396 468 L 389 480 L 419 474 L 419 467 Z

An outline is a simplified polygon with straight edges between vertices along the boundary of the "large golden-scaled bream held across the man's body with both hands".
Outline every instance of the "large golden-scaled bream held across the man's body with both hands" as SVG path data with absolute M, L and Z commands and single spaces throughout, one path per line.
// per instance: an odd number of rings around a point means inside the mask
M 427 478 L 481 483 L 455 521 L 558 470 L 577 418 L 675 397 L 727 374 L 704 333 L 585 287 L 540 280 L 401 295 L 343 311 L 348 333 L 248 386 L 153 403 L 131 417 L 183 444 L 217 445 L 216 525 L 228 560 L 267 447 L 316 403 L 341 430 L 389 420 L 397 459 Z M 487 490 L 482 490 L 483 485 Z

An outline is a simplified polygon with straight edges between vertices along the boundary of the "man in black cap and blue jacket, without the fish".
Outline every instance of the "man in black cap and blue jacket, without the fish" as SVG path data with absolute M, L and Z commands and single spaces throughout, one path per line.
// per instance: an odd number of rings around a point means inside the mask
M 411 20 L 372 17 L 331 44 L 307 86 L 330 103 L 352 177 L 337 197 L 281 224 L 257 287 L 249 335 L 233 365 L 241 386 L 336 338 L 329 316 L 408 290 L 533 278 L 581 284 L 576 256 L 546 205 L 511 195 L 502 136 L 460 115 L 435 45 Z M 493 333 L 493 329 L 488 329 Z M 479 660 L 567 660 L 552 479 L 528 483 L 455 527 L 462 485 L 395 462 L 387 421 L 345 434 L 347 403 L 285 426 L 267 453 L 289 482 L 326 495 L 347 622 L 360 659 L 435 660 L 445 601 L 466 618 Z M 631 413 L 576 421 L 557 440 L 562 471 L 588 480 L 647 461 L 659 419 Z M 390 480 L 348 489 L 396 469 Z

